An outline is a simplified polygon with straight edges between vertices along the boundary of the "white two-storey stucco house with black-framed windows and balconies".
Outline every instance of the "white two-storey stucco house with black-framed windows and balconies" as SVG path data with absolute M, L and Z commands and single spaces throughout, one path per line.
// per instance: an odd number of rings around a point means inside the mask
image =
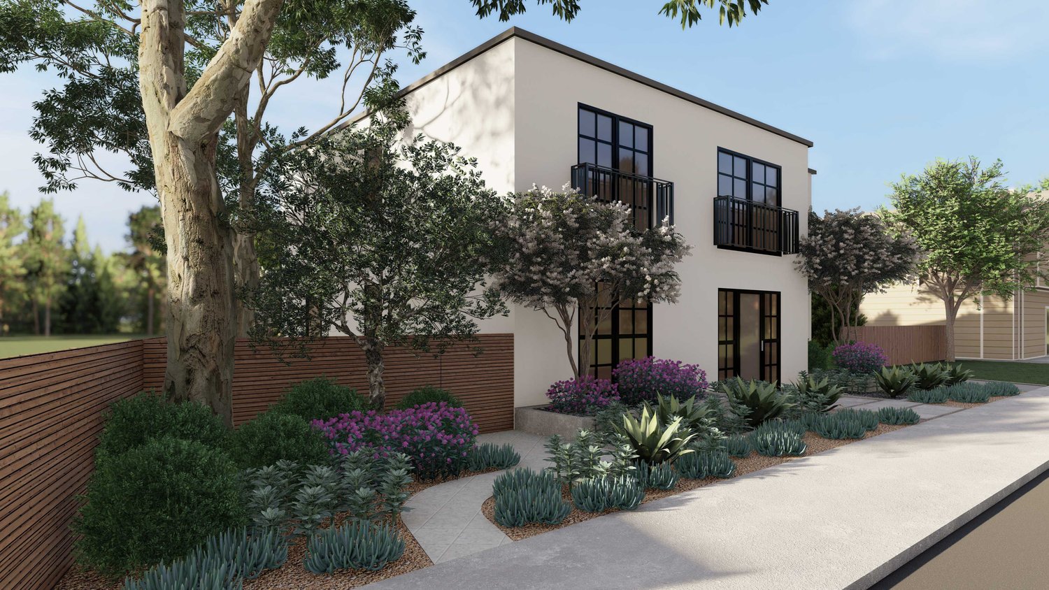
M 621 305 L 592 372 L 647 355 L 695 363 L 711 380 L 806 368 L 809 292 L 793 254 L 811 141 L 519 28 L 403 92 L 406 134 L 456 144 L 492 189 L 572 182 L 633 205 L 641 225 L 672 216 L 693 246 L 680 301 Z M 563 336 L 541 312 L 515 307 L 480 328 L 514 334 L 515 406 L 544 402 L 571 376 Z

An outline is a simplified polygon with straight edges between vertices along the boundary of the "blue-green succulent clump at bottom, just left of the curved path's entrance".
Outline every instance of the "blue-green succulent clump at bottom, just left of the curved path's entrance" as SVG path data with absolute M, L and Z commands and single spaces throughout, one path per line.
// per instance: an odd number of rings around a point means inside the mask
M 377 571 L 404 554 L 404 540 L 395 528 L 350 521 L 318 531 L 306 543 L 302 566 L 312 573 L 340 569 Z

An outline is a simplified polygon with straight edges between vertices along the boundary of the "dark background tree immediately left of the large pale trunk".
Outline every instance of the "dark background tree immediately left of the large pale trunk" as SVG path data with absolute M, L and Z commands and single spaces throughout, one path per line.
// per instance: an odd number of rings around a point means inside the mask
M 142 285 L 146 302 L 144 326 L 147 336 L 152 336 L 157 329 L 155 314 L 157 304 L 163 310 L 167 301 L 165 297 L 167 266 L 163 234 L 159 206 L 143 206 L 128 216 L 127 240 L 131 253 L 127 257 L 127 264 L 138 277 Z

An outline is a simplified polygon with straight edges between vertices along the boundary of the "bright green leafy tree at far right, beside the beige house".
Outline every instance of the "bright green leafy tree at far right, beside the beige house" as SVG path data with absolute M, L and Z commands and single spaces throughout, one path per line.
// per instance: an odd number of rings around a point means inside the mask
M 943 302 L 947 360 L 962 303 L 991 294 L 1010 300 L 1035 284 L 1037 255 L 1049 241 L 1049 201 L 1003 184 L 1002 161 L 937 160 L 894 183 L 886 219 L 924 253 L 922 290 Z

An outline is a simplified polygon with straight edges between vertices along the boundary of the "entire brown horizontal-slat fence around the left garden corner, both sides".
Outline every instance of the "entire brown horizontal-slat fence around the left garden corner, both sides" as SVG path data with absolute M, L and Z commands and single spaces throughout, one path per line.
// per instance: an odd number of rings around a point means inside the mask
M 387 408 L 425 385 L 451 390 L 481 432 L 513 428 L 513 334 L 481 334 L 475 354 L 456 345 L 441 356 L 387 349 Z M 69 524 L 93 469 L 106 408 L 159 390 L 164 338 L 0 359 L 0 588 L 50 588 L 72 564 Z M 233 420 L 243 423 L 296 381 L 327 376 L 367 395 L 364 354 L 334 336 L 309 358 L 281 363 L 238 341 Z

